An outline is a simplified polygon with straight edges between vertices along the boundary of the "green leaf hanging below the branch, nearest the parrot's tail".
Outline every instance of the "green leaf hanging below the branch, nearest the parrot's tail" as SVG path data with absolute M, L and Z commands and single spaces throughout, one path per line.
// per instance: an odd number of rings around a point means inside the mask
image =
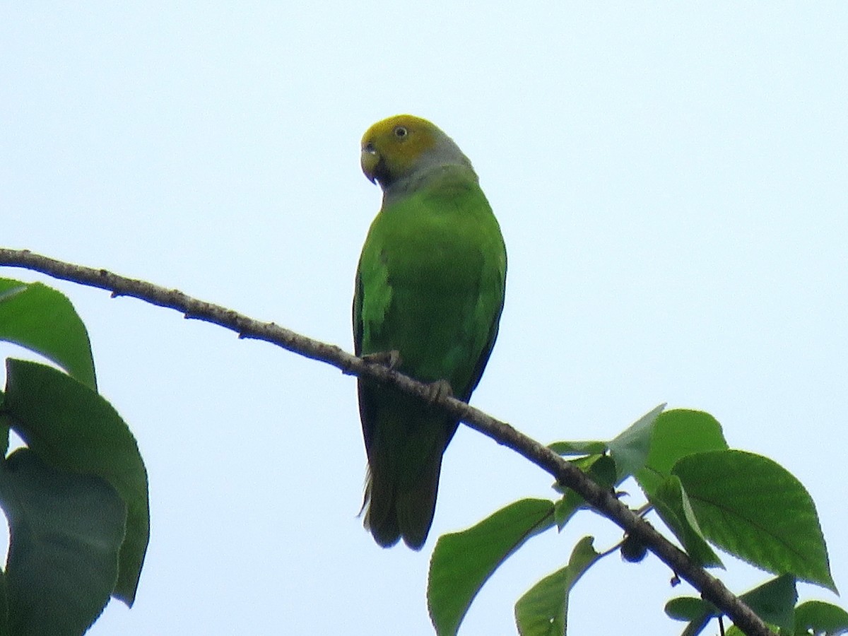
M 427 606 L 436 633 L 455 634 L 488 577 L 528 538 L 553 525 L 552 502 L 522 499 L 474 527 L 439 537 L 427 581 Z

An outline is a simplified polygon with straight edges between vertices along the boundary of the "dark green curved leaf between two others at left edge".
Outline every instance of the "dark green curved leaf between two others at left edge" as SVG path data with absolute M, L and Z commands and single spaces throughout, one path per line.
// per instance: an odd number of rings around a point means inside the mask
M 4 410 L 42 460 L 103 477 L 126 504 L 114 596 L 132 605 L 148 546 L 148 477 L 130 429 L 98 393 L 47 365 L 6 360 Z

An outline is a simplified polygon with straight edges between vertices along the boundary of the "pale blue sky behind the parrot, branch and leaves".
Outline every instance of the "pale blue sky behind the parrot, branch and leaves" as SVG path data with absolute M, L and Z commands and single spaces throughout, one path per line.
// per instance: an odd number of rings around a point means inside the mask
M 708 410 L 810 490 L 845 589 L 846 34 L 837 2 L 4 3 L 0 243 L 350 349 L 380 198 L 360 136 L 427 117 L 474 162 L 510 257 L 473 404 L 543 442 L 611 438 L 661 402 Z M 553 496 L 460 428 L 424 550 L 380 550 L 355 518 L 351 378 L 50 284 L 86 321 L 150 478 L 137 603 L 111 603 L 92 634 L 432 633 L 438 535 Z M 534 539 L 461 633 L 514 633 L 515 600 L 586 533 L 621 536 L 583 514 Z M 653 557 L 605 559 L 572 633 L 679 633 L 662 605 L 687 589 L 670 577 Z M 766 577 L 734 565 L 726 581 Z

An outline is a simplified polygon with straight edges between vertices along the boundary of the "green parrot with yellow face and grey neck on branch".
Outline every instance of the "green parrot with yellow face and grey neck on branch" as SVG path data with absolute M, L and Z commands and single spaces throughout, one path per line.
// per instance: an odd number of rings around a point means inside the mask
M 365 132 L 362 171 L 382 188 L 354 293 L 357 355 L 390 361 L 467 401 L 498 336 L 506 248 L 471 161 L 427 120 L 401 114 Z M 377 544 L 420 550 L 442 454 L 459 424 L 421 399 L 365 379 L 365 528 Z

